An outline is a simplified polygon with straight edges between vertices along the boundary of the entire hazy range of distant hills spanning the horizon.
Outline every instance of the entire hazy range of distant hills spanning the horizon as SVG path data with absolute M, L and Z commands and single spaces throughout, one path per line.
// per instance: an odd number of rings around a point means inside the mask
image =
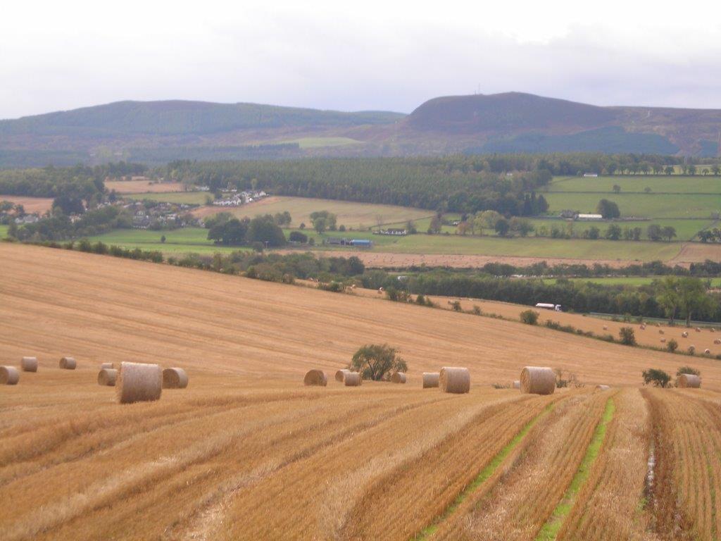
M 720 133 L 721 110 L 598 107 L 520 92 L 437 97 L 410 115 L 126 101 L 0 120 L 0 166 L 517 151 L 715 156 Z

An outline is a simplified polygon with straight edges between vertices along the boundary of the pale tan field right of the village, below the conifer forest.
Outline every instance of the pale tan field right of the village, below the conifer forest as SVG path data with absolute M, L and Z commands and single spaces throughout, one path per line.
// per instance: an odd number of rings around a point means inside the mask
M 428 218 L 433 215 L 432 211 L 422 208 L 354 203 L 331 199 L 285 197 L 281 195 L 272 195 L 260 201 L 234 208 L 205 206 L 198 208 L 193 214 L 198 217 L 205 217 L 218 212 L 230 212 L 239 218 L 244 216 L 253 218 L 258 214 L 276 214 L 285 211 L 291 213 L 293 218 L 291 226 L 298 227 L 304 223 L 309 229 L 312 228 L 310 215 L 315 211 L 332 212 L 337 215 L 338 226 L 345 225 L 346 227 L 353 227 L 353 229 L 375 227 L 379 222 L 379 218 L 381 224 L 404 226 L 409 220 Z

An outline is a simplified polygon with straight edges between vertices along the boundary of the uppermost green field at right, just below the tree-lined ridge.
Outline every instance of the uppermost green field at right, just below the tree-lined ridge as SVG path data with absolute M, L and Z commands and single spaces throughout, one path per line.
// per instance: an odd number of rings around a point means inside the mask
M 709 193 L 721 195 L 721 177 L 669 177 L 669 176 L 625 176 L 625 177 L 555 177 L 548 187 L 549 192 L 598 192 L 614 194 L 614 185 L 621 193 Z

